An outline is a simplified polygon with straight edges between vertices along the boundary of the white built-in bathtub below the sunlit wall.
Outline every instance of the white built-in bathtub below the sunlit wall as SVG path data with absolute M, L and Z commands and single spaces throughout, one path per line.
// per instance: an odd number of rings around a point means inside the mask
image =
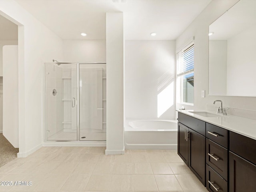
M 177 130 L 177 120 L 126 120 L 125 148 L 176 150 Z

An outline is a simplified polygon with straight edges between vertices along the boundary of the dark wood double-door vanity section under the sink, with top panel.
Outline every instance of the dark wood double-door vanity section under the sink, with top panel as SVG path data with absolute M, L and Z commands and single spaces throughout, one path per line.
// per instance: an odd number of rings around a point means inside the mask
M 178 155 L 205 186 L 205 122 L 191 118 L 179 113 Z M 186 126 L 190 120 L 192 127 L 204 135 Z

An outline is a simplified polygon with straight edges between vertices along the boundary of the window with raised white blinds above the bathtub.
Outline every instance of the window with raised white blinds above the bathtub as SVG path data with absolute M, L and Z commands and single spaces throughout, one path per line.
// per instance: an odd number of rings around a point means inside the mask
M 177 53 L 177 102 L 194 104 L 194 41 Z

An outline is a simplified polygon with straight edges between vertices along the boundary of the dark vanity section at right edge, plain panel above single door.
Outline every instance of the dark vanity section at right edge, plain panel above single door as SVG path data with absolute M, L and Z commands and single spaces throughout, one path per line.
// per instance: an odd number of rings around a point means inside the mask
M 256 192 L 256 140 L 230 131 L 229 192 Z

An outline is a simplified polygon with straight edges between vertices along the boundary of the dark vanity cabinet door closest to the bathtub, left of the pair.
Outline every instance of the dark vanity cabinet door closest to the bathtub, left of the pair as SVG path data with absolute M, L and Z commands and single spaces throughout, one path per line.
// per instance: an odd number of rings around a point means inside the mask
M 188 165 L 188 140 L 186 138 L 188 127 L 178 123 L 178 155 Z

